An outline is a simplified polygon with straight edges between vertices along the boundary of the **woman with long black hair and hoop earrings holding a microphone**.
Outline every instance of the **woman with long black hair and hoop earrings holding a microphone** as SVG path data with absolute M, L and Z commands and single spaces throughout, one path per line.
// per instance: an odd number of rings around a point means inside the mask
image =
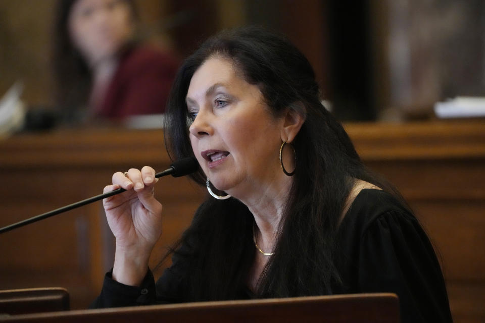
M 312 67 L 281 36 L 222 32 L 185 60 L 165 141 L 195 156 L 211 196 L 155 284 L 154 170 L 113 175 L 104 201 L 113 271 L 93 306 L 394 292 L 403 321 L 451 321 L 440 264 L 399 193 L 361 163 L 320 102 Z

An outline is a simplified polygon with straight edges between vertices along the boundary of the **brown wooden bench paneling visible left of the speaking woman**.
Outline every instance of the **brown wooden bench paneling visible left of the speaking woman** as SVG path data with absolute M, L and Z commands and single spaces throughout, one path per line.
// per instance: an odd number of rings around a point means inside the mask
M 0 142 L 0 226 L 102 193 L 116 171 L 171 164 L 161 131 L 64 130 L 18 135 Z M 185 178 L 163 178 L 164 234 L 154 266 L 191 221 L 204 196 Z M 66 287 L 72 308 L 99 293 L 113 263 L 114 242 L 101 202 L 0 236 L 0 289 Z

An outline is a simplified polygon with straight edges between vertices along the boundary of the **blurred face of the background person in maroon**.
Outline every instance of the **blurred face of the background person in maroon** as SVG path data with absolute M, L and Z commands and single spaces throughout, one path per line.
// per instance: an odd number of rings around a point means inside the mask
M 88 64 L 110 58 L 132 36 L 134 22 L 122 0 L 78 0 L 71 8 L 69 34 Z

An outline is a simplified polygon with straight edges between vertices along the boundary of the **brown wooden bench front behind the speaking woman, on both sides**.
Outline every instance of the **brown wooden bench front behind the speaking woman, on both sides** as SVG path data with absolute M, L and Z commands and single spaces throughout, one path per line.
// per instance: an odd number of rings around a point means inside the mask
M 456 322 L 485 320 L 485 121 L 347 124 L 364 163 L 395 183 L 444 265 Z M 160 130 L 58 130 L 0 141 L 0 226 L 99 194 L 111 174 L 169 166 Z M 157 184 L 164 234 L 152 266 L 191 220 L 205 191 Z M 0 289 L 63 286 L 87 306 L 112 265 L 113 241 L 95 203 L 0 236 Z

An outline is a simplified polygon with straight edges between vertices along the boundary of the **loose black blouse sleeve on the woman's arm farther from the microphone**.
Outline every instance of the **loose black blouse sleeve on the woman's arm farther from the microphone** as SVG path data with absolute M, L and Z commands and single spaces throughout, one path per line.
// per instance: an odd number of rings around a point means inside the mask
M 451 322 L 445 282 L 433 247 L 417 220 L 390 211 L 372 221 L 360 239 L 362 292 L 399 296 L 402 322 Z

